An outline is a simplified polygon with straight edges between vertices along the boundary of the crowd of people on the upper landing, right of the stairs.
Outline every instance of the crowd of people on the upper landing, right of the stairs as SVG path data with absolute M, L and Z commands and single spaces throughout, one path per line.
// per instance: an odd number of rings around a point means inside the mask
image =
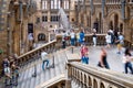
M 86 44 L 85 44 L 84 35 L 85 35 L 85 33 L 83 30 L 81 30 L 80 32 L 79 31 L 74 32 L 74 30 L 71 30 L 70 31 L 70 44 L 72 46 L 74 46 L 74 45 L 81 46 L 80 47 L 81 62 L 83 64 L 89 64 L 89 46 L 86 46 Z M 68 40 L 69 38 L 68 38 L 66 33 L 65 33 L 65 31 L 63 31 L 62 48 L 65 48 Z M 96 31 L 93 31 L 92 42 L 93 42 L 94 47 L 96 46 L 96 41 L 98 41 Z M 101 48 L 101 54 L 100 54 L 100 59 L 98 62 L 98 66 L 110 69 L 110 65 L 108 63 L 106 48 L 110 48 L 111 46 L 116 45 L 116 47 L 117 47 L 116 54 L 121 55 L 123 53 L 122 47 L 124 45 L 124 36 L 121 32 L 115 32 L 113 30 L 109 30 L 105 35 L 105 43 L 106 43 L 106 45 Z M 131 59 L 133 57 L 131 56 L 130 48 L 125 47 L 125 52 L 123 54 L 124 54 L 124 56 L 122 56 L 122 58 L 124 59 L 123 65 L 124 65 L 125 74 L 127 74 L 127 68 L 130 68 L 131 74 L 133 74 L 133 67 L 131 64 Z

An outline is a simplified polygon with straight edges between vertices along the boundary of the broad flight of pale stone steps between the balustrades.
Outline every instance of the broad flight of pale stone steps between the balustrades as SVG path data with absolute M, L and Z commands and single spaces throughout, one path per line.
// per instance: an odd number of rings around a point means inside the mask
M 52 53 L 54 55 L 54 68 L 42 70 L 42 61 L 40 56 L 33 56 L 32 61 L 29 61 L 20 69 L 20 77 L 17 88 L 35 88 L 35 86 L 43 84 L 61 74 L 65 73 L 65 55 L 62 51 Z M 34 65 L 37 66 L 37 77 L 32 77 L 34 73 Z M 52 57 L 50 58 L 50 65 L 52 65 Z

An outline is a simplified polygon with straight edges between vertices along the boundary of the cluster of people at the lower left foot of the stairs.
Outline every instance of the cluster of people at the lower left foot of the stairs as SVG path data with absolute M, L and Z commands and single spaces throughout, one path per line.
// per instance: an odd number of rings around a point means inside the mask
M 6 86 L 17 86 L 19 77 L 19 66 L 16 62 L 18 58 L 17 54 L 13 56 L 6 57 L 2 62 L 2 74 L 6 78 Z

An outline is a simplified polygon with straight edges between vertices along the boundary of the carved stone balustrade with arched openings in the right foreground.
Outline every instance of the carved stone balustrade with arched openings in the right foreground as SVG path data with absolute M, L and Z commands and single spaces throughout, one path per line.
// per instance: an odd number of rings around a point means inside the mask
M 81 88 L 131 88 L 133 78 L 117 72 L 69 63 L 69 77 Z

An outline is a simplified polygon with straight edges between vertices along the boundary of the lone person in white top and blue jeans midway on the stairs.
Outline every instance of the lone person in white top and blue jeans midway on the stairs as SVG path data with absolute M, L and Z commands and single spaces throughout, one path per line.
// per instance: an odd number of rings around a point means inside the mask
M 45 63 L 47 63 L 45 68 L 49 68 L 49 59 L 48 59 L 48 53 L 47 52 L 41 53 L 41 59 L 42 59 L 42 69 L 44 70 Z

